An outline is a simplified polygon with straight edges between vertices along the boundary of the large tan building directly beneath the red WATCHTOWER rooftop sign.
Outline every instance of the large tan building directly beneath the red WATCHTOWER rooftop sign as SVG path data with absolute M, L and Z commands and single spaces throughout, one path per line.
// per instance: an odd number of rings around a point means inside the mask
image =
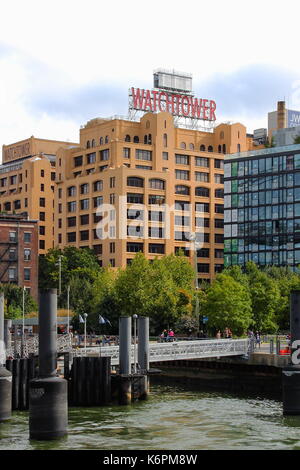
M 239 123 L 202 132 L 167 112 L 93 119 L 77 148 L 57 151 L 54 245 L 90 247 L 102 266 L 180 248 L 192 262 L 197 233 L 198 276 L 211 280 L 223 265 L 224 154 L 251 147 Z

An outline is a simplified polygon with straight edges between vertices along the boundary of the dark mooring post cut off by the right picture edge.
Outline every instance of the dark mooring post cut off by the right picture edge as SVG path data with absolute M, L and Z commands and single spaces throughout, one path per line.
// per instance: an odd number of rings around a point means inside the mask
M 282 369 L 284 415 L 300 415 L 300 290 L 290 295 L 291 356 Z

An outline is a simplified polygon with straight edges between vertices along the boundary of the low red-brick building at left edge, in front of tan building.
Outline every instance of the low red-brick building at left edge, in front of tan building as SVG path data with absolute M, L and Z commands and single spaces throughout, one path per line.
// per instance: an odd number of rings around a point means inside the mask
M 0 214 L 0 283 L 25 287 L 38 300 L 38 221 Z

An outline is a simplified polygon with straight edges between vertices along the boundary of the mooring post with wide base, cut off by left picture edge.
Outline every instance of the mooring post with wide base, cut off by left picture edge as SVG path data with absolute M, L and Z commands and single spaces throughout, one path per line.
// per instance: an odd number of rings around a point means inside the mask
M 4 343 L 4 294 L 0 293 L 0 421 L 11 417 L 12 375 L 4 366 L 6 351 Z

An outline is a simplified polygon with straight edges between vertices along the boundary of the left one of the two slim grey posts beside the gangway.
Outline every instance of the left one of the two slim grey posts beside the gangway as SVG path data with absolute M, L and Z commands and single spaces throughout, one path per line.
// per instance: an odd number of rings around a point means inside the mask
M 131 317 L 120 317 L 119 341 L 119 402 L 128 405 L 131 403 Z

